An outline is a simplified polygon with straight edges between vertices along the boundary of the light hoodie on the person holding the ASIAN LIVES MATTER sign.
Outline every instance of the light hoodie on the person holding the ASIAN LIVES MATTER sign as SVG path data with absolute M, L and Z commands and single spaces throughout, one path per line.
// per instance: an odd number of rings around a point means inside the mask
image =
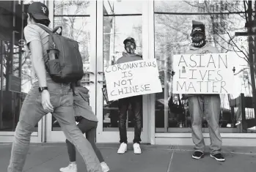
M 205 46 L 201 48 L 195 48 L 192 44 L 189 46 L 189 51 L 186 51 L 186 54 L 205 54 L 205 53 L 219 53 L 218 49 L 211 46 L 209 42 L 205 43 Z M 183 94 L 183 98 L 191 97 L 201 94 Z

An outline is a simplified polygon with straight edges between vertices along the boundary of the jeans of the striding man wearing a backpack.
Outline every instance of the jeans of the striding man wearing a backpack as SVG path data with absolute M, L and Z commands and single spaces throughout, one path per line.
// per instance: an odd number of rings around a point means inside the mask
M 51 95 L 51 104 L 54 106 L 54 117 L 62 127 L 66 138 L 76 146 L 83 157 L 88 172 L 102 172 L 98 157 L 82 132 L 76 126 L 73 111 L 73 92 L 68 84 L 47 81 Z M 14 141 L 8 172 L 22 172 L 29 151 L 30 137 L 34 126 L 47 114 L 41 104 L 41 94 L 38 91 L 38 82 L 34 83 L 23 102 L 18 125 L 15 130 Z

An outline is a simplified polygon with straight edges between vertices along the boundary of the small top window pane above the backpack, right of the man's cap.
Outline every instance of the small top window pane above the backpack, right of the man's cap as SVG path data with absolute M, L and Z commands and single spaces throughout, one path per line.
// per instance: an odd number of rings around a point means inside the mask
M 90 1 L 54 1 L 54 15 L 89 15 Z

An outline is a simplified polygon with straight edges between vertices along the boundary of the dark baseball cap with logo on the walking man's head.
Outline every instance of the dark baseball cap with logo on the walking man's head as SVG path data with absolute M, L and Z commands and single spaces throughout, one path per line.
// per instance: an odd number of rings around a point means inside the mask
M 33 17 L 37 20 L 49 20 L 48 7 L 39 1 L 30 4 L 27 12 L 32 13 Z

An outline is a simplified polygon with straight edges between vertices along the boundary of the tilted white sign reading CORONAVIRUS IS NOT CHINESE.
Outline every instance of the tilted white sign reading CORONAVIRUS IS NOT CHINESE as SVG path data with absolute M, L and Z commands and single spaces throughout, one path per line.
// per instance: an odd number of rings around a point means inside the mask
M 162 91 L 156 59 L 105 67 L 109 101 Z

